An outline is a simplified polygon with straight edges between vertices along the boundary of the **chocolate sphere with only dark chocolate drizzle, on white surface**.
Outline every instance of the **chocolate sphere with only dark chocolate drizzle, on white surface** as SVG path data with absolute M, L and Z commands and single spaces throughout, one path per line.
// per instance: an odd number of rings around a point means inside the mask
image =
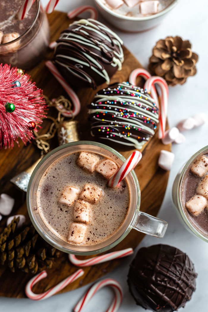
M 184 307 L 196 289 L 196 272 L 189 257 L 167 245 L 139 249 L 128 272 L 137 305 L 158 312 Z

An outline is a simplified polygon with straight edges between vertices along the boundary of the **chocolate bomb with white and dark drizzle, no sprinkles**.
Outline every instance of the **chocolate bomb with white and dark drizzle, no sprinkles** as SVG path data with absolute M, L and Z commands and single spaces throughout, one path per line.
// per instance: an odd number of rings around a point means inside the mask
M 91 18 L 73 22 L 61 32 L 54 62 L 68 83 L 96 89 L 123 63 L 123 41 L 104 24 Z

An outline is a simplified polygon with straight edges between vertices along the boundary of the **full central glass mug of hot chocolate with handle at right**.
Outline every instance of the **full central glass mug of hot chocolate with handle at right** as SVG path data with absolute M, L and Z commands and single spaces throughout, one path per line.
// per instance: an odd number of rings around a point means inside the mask
M 96 142 L 77 141 L 48 153 L 33 171 L 27 208 L 39 234 L 67 253 L 90 255 L 117 245 L 132 228 L 163 237 L 167 222 L 140 212 L 132 170 L 117 187 L 108 179 L 125 158 Z

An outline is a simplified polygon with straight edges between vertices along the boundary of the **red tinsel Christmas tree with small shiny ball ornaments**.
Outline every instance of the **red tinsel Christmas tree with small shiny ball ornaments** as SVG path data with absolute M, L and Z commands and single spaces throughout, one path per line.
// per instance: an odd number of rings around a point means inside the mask
M 0 65 L 0 149 L 13 148 L 18 138 L 24 144 L 34 139 L 32 129 L 46 116 L 43 91 L 30 76 L 16 67 Z

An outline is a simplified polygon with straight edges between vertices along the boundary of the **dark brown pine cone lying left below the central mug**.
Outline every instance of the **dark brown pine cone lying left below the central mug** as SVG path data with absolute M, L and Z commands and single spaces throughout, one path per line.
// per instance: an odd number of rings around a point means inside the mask
M 12 272 L 21 269 L 35 274 L 45 268 L 51 268 L 53 260 L 60 252 L 44 241 L 32 224 L 17 229 L 19 217 L 4 228 L 0 235 L 0 264 Z

